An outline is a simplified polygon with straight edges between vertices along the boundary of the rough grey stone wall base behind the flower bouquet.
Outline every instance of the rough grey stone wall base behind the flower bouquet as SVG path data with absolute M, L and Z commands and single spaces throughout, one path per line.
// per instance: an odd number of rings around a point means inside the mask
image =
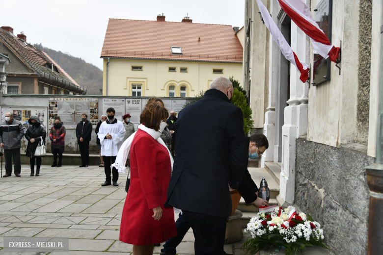
M 365 147 L 365 146 L 364 146 Z M 369 189 L 365 151 L 296 141 L 295 203 L 321 223 L 336 255 L 365 255 Z

